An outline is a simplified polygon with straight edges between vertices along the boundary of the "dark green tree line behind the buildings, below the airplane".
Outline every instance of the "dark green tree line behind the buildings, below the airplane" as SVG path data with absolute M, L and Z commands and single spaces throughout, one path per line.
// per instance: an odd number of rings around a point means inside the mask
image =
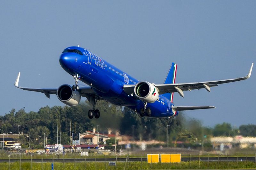
M 85 101 L 75 107 L 45 106 L 38 112 L 25 112 L 24 109 L 15 111 L 12 109 L 4 116 L 0 116 L 1 133 L 30 134 L 30 147 L 42 148 L 44 133 L 48 144 L 57 143 L 57 133 L 61 132 L 61 143 L 70 144 L 70 121 L 74 133 L 74 122 L 76 122 L 76 133 L 84 133 L 93 128 L 100 133 L 107 134 L 108 129 L 118 131 L 121 135 L 129 135 L 132 140 L 160 140 L 168 142 L 170 146 L 173 141 L 189 141 L 192 144 L 199 144 L 202 140 L 207 141 L 212 136 L 252 136 L 256 137 L 256 125 L 241 125 L 239 128 L 232 127 L 230 123 L 216 124 L 213 128 L 204 127 L 199 120 L 186 118 L 182 112 L 171 118 L 148 118 L 140 117 L 126 107 L 119 107 L 105 101 L 97 102 L 97 109 L 100 110 L 99 119 L 89 119 L 88 110 L 91 109 L 89 102 Z M 57 126 L 60 126 L 57 132 Z M 28 138 L 20 136 L 22 147 L 28 147 Z

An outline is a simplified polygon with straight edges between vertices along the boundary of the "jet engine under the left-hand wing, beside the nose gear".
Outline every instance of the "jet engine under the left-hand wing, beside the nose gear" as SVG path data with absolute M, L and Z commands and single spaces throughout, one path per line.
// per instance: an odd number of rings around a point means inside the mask
M 70 85 L 61 85 L 57 90 L 58 99 L 68 105 L 76 106 L 81 100 L 81 95 L 78 91 L 73 91 Z

